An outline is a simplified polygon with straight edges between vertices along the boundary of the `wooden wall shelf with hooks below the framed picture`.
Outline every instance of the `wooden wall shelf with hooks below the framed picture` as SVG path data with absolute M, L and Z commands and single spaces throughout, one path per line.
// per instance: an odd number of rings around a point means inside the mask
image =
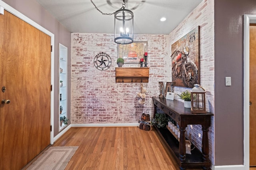
M 117 83 L 148 83 L 149 67 L 116 67 Z

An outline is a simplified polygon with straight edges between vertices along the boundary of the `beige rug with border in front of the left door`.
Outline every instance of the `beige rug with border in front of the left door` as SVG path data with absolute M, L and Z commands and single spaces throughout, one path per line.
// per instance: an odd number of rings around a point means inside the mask
M 26 170 L 64 170 L 78 147 L 49 147 Z

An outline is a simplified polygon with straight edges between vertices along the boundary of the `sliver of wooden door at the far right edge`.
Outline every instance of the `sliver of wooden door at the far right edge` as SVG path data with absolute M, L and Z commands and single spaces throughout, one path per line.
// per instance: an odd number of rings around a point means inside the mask
M 256 166 L 256 24 L 250 24 L 250 166 Z

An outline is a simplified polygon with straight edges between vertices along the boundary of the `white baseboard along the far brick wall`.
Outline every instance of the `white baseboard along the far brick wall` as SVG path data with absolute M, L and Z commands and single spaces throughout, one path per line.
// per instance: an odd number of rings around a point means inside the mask
M 71 124 L 72 127 L 137 127 L 140 123 L 89 123 Z

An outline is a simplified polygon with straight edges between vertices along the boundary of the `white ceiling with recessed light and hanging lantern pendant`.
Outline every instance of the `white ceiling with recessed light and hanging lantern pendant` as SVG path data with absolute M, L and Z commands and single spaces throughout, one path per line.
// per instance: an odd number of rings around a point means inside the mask
M 114 15 L 90 0 L 36 0 L 70 32 L 114 33 Z M 114 13 L 122 0 L 92 0 Z M 134 34 L 169 34 L 202 0 L 125 0 L 134 13 Z M 160 21 L 165 17 L 166 21 Z

